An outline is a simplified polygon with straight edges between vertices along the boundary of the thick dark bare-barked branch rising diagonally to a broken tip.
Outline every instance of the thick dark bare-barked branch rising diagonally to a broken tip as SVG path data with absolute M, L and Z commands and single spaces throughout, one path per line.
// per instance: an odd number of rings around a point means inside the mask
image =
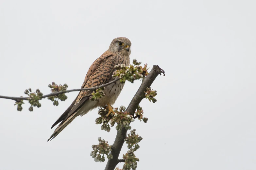
M 127 112 L 129 112 L 131 115 L 134 115 L 136 108 L 138 107 L 142 99 L 145 98 L 146 88 L 150 87 L 155 78 L 161 73 L 163 73 L 162 69 L 158 65 L 154 65 L 148 76 L 143 79 L 140 88 L 132 98 L 129 106 L 126 109 Z M 118 156 L 123 147 L 126 134 L 127 130 L 125 128 L 122 128 L 120 131 L 117 132 L 114 144 L 111 148 L 111 154 L 113 155 L 113 159 L 108 160 L 105 170 L 114 170 L 115 166 L 119 163 Z

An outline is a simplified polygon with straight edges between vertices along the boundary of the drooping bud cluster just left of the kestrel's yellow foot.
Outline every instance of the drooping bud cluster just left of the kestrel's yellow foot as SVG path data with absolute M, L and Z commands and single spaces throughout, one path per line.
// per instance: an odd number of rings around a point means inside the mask
M 98 117 L 96 120 L 95 120 L 95 123 L 96 124 L 102 124 L 101 125 L 101 130 L 105 130 L 107 132 L 110 132 L 110 125 L 109 125 L 109 121 L 114 118 L 114 115 L 113 113 L 111 113 L 108 117 L 108 113 L 109 113 L 109 110 L 107 109 L 108 106 L 105 106 L 105 107 L 100 107 L 99 110 L 98 110 L 98 114 L 100 115 L 100 117 Z M 116 111 L 116 109 L 114 108 L 113 111 Z

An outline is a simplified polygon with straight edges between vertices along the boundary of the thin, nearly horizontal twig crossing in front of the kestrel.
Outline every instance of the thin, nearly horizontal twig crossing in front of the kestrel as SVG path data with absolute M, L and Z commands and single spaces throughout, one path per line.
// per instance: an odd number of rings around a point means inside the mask
M 68 92 L 76 92 L 76 91 L 82 91 L 82 90 L 96 90 L 98 88 L 101 88 L 101 87 L 104 87 L 104 86 L 107 86 L 107 85 L 110 85 L 118 80 L 120 80 L 121 78 L 116 78 L 114 79 L 113 81 L 111 82 L 108 82 L 106 84 L 102 84 L 100 86 L 95 86 L 95 87 L 92 87 L 92 88 L 84 88 L 84 89 L 72 89 L 72 90 L 66 90 L 66 91 L 61 91 L 61 92 L 52 92 L 50 94 L 46 94 L 46 95 L 43 95 L 42 98 L 46 98 L 46 97 L 50 97 L 50 96 L 55 96 L 55 95 L 59 95 L 59 94 L 62 94 L 62 93 L 68 93 Z M 1 96 L 0 95 L 0 98 L 3 98 L 3 99 L 11 99 L 11 100 L 28 100 L 29 97 L 9 97 L 9 96 Z

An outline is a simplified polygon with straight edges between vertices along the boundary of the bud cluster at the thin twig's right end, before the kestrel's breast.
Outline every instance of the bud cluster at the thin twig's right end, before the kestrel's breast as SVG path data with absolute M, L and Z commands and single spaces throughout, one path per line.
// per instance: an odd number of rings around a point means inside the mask
M 135 64 L 140 63 L 137 63 L 136 61 Z M 125 83 L 126 80 L 133 83 L 134 80 L 143 78 L 143 75 L 138 73 L 138 70 L 134 65 L 127 66 L 125 64 L 118 64 L 115 66 L 115 71 L 113 72 L 112 77 L 121 78 L 121 83 Z

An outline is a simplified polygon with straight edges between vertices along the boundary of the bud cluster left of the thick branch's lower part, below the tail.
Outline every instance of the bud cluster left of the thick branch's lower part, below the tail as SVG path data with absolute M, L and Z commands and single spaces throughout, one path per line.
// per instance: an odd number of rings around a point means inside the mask
M 93 151 L 91 152 L 91 156 L 94 158 L 95 162 L 104 162 L 106 154 L 108 159 L 113 159 L 113 155 L 110 153 L 112 151 L 111 146 L 109 146 L 108 141 L 104 139 L 98 138 L 99 144 L 93 145 Z

